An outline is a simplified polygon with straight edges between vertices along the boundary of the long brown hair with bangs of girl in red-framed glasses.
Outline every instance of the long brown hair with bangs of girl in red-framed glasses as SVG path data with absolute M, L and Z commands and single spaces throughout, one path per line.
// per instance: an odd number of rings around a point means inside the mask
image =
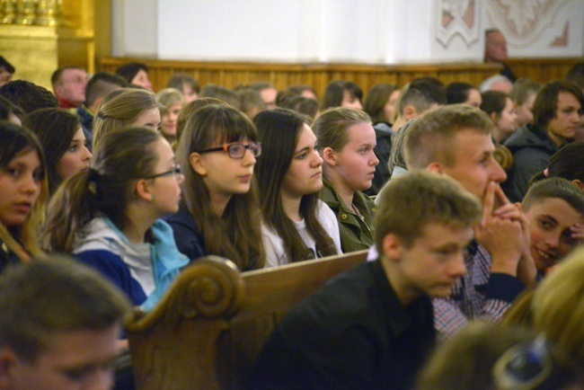
M 189 162 L 190 154 L 196 150 L 212 147 L 217 141 L 230 143 L 244 138 L 257 139 L 252 122 L 233 107 L 211 104 L 187 120 L 176 159 L 185 167 L 182 199 L 203 235 L 205 252 L 234 261 L 240 270 L 254 270 L 262 268 L 265 261 L 255 180 L 250 191 L 234 194 L 223 215 L 217 216 L 211 209 L 205 182 Z

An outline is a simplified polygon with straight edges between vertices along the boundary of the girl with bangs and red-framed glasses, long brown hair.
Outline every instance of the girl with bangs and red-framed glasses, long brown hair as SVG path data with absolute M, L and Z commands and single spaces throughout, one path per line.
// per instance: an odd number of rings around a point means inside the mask
M 179 212 L 169 218 L 181 253 L 191 261 L 223 256 L 240 270 L 263 267 L 260 210 L 253 166 L 257 132 L 241 111 L 211 104 L 187 121 L 177 148 L 186 167 Z

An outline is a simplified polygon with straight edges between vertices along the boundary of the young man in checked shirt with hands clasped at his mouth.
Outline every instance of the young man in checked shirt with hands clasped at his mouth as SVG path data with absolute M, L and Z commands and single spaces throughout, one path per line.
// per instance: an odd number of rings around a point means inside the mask
M 408 171 L 446 175 L 482 201 L 483 216 L 475 226 L 465 255 L 466 275 L 449 297 L 434 299 L 440 339 L 473 319 L 497 322 L 537 270 L 529 253 L 526 217 L 500 189 L 507 178 L 494 158 L 494 124 L 489 116 L 465 104 L 452 104 L 415 120 L 404 139 Z

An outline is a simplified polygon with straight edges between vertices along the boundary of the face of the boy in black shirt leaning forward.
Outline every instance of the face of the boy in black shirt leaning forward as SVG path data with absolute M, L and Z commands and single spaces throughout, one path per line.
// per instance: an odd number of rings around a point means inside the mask
M 447 297 L 456 280 L 465 275 L 465 248 L 473 238 L 471 227 L 430 223 L 410 248 L 402 246 L 398 262 L 400 279 L 407 296 L 421 294 Z

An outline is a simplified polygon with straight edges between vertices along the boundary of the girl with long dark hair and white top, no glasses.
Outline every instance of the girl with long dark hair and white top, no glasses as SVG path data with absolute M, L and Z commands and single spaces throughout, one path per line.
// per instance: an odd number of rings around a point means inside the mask
M 323 159 L 316 137 L 294 111 L 262 111 L 254 120 L 263 148 L 256 172 L 266 267 L 341 253 L 337 218 L 322 200 Z

